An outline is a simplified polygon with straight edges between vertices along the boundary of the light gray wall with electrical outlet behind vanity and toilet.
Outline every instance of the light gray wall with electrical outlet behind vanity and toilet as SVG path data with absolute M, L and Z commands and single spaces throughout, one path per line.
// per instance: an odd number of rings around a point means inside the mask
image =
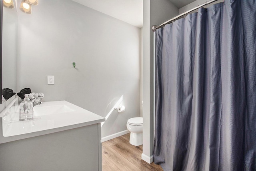
M 71 0 L 19 11 L 18 90 L 25 87 L 103 117 L 123 96 L 126 111 L 111 113 L 102 137 L 126 130 L 127 120 L 140 116 L 140 29 Z

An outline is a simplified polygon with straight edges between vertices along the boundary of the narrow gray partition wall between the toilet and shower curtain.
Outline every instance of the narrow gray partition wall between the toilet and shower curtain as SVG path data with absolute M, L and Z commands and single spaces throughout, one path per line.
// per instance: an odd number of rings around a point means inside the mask
M 178 15 L 169 0 L 143 1 L 143 154 L 151 162 L 154 148 L 154 46 L 151 27 Z M 150 158 L 151 157 L 151 158 Z M 142 159 L 145 159 L 142 157 Z M 149 161 L 150 160 L 150 161 Z

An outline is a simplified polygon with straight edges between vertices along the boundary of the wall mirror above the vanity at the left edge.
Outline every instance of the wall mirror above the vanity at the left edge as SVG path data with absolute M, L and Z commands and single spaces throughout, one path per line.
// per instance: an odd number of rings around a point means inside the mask
M 17 26 L 18 14 L 16 1 L 13 0 L 14 8 L 8 8 L 0 2 L 1 15 L 1 45 L 0 45 L 0 66 L 1 66 L 1 90 L 12 89 L 17 92 Z M 2 93 L 2 91 L 1 91 Z M 4 100 L 4 99 L 2 99 Z M 2 103 L 2 101 L 0 101 Z

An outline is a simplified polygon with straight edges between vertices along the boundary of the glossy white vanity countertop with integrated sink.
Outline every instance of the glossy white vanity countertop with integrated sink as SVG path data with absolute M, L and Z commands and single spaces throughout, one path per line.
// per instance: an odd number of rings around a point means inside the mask
M 34 118 L 29 121 L 19 121 L 18 105 L 13 105 L 7 114 L 6 111 L 1 113 L 0 117 L 2 117 L 0 120 L 2 120 L 3 137 L 29 134 L 29 136 L 22 136 L 25 138 L 105 121 L 104 117 L 68 101 L 50 101 L 36 105 L 34 107 Z

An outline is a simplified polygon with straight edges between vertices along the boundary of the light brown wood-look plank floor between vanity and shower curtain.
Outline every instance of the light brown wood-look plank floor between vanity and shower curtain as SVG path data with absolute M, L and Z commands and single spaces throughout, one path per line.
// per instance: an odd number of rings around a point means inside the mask
M 142 145 L 131 145 L 129 138 L 130 133 L 102 143 L 102 171 L 163 171 L 142 160 Z

